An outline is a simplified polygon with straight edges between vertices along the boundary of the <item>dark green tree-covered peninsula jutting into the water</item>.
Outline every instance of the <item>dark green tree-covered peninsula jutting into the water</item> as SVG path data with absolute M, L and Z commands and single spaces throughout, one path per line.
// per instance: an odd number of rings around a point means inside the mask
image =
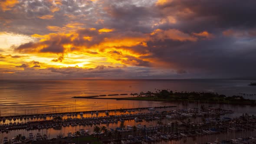
M 132 98 L 118 98 L 126 100 L 144 100 L 144 101 L 200 101 L 217 102 L 226 104 L 244 104 L 256 105 L 255 100 L 245 99 L 243 96 L 219 95 L 212 92 L 173 92 L 171 90 L 156 90 L 156 92 L 147 92 L 147 95 L 138 95 Z

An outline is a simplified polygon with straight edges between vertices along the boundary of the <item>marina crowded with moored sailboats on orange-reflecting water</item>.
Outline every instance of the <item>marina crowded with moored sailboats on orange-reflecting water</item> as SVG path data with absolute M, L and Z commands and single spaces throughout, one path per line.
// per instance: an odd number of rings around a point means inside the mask
M 228 117 L 232 114 L 231 110 L 214 107 L 177 109 L 175 106 L 80 111 L 23 115 L 7 118 L 8 120 L 1 118 L 0 129 L 2 137 L 9 136 L 9 141 L 14 132 L 23 134 L 26 137 L 24 142 L 32 143 L 56 139 L 71 141 L 76 137 L 91 136 L 100 137 L 103 143 L 126 144 L 168 143 L 200 137 L 209 137 L 207 140 L 210 140 L 210 137 L 221 134 L 233 138 L 237 134 L 241 137 L 253 136 L 256 117 L 247 114 L 236 118 Z M 11 118 L 14 122 L 10 122 Z M 22 122 L 24 118 L 27 120 L 25 123 Z M 100 130 L 95 130 L 97 127 Z M 112 135 L 111 139 L 107 137 L 109 133 Z

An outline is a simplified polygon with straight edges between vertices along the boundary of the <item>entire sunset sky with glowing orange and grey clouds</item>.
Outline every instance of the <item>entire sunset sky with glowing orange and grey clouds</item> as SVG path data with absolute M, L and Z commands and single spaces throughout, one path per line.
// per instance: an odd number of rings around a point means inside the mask
M 0 0 L 0 79 L 255 77 L 255 7 L 255 0 Z

